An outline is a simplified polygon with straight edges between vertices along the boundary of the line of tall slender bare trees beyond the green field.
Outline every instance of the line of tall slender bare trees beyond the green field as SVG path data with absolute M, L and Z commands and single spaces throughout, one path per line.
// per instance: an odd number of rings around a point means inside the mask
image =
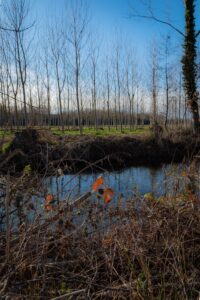
M 198 132 L 194 1 L 184 1 L 183 49 L 167 34 L 148 46 L 143 66 L 117 32 L 102 49 L 86 1 L 67 3 L 66 18 L 39 30 L 27 0 L 2 1 L 0 126 L 76 127 L 82 134 L 84 126 L 122 131 L 151 122 L 167 129 L 193 120 Z

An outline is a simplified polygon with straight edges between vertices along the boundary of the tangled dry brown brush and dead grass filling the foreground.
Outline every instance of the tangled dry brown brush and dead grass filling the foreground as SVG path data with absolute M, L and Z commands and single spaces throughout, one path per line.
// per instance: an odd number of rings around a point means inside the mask
M 199 296 L 199 199 L 191 190 L 126 205 L 59 203 L 11 225 L 0 233 L 1 299 Z

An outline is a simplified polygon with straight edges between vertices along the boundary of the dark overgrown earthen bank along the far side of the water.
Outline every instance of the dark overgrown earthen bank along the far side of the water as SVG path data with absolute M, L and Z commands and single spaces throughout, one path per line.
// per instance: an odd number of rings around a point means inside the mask
M 48 131 L 24 130 L 15 134 L 5 153 L 0 155 L 0 172 L 17 174 L 30 165 L 41 174 L 59 167 L 66 173 L 81 169 L 118 169 L 134 165 L 159 165 L 181 162 L 200 150 L 200 140 L 191 135 L 153 137 L 64 136 Z

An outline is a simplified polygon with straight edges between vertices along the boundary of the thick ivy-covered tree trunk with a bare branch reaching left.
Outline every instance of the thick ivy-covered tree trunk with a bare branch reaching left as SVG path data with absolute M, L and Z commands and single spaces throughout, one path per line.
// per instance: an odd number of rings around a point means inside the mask
M 183 57 L 182 57 L 182 71 L 183 71 L 183 83 L 185 88 L 185 93 L 187 96 L 187 105 L 190 108 L 193 118 L 193 130 L 196 134 L 199 134 L 200 131 L 200 122 L 199 122 L 199 106 L 198 106 L 198 92 L 197 92 L 197 47 L 196 40 L 200 35 L 200 30 L 195 30 L 195 0 L 184 0 L 184 10 L 185 10 L 185 32 L 182 32 L 179 28 L 174 26 L 172 23 L 163 20 L 155 16 L 151 1 L 147 3 L 144 2 L 148 8 L 148 13 L 146 15 L 139 14 L 135 12 L 130 14 L 131 17 L 139 17 L 144 19 L 154 20 L 160 24 L 167 25 L 172 28 L 174 31 L 179 33 L 184 38 L 183 44 Z

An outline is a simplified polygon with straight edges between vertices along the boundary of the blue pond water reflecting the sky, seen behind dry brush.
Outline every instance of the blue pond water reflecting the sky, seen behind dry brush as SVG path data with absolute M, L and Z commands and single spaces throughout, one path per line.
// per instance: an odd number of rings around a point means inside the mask
M 114 190 L 114 198 L 112 199 L 112 205 L 117 204 L 118 199 L 122 200 L 122 203 L 126 203 L 127 200 L 133 199 L 134 196 L 142 197 L 144 194 L 153 193 L 155 197 L 162 195 L 174 194 L 177 190 L 180 191 L 182 187 L 187 183 L 187 176 L 183 175 L 183 170 L 186 170 L 187 166 L 182 164 L 162 165 L 157 168 L 153 167 L 130 167 L 120 171 L 104 172 L 104 173 L 83 173 L 76 175 L 63 175 L 52 176 L 44 178 L 42 186 L 42 194 L 31 196 L 32 203 L 34 204 L 34 212 L 29 211 L 27 205 L 23 205 L 23 218 L 28 222 L 32 222 L 39 214 L 44 216 L 44 195 L 49 193 L 53 194 L 54 198 L 59 201 L 72 201 L 76 200 L 85 193 L 91 191 L 92 184 L 101 175 L 104 177 L 105 185 Z M 93 200 L 95 200 L 95 195 Z M 4 196 L 2 196 L 4 199 Z M 25 199 L 27 200 L 27 199 Z M 24 201 L 24 200 L 23 200 Z M 2 204 L 4 203 L 4 200 Z M 92 203 L 92 202 L 91 202 Z M 93 203 L 96 203 L 93 202 Z M 100 203 L 103 203 L 100 201 Z M 11 207 L 11 210 L 16 210 L 15 207 Z M 16 213 L 12 214 L 12 223 L 17 224 L 22 213 L 19 209 Z M 3 207 L 0 205 L 0 217 L 5 215 Z M 82 212 L 82 217 L 85 213 Z M 17 218 L 16 218 L 17 217 Z M 78 217 L 80 220 L 82 218 Z M 24 220 L 25 220 L 24 219 Z M 1 220 L 1 218 L 0 218 Z M 4 219 L 2 219 L 3 222 Z M 80 221 L 79 220 L 79 221 Z M 20 221 L 21 223 L 22 221 Z M 76 223 L 78 223 L 76 221 Z M 3 223 L 2 223 L 3 224 Z M 0 230 L 1 230 L 0 222 Z M 2 227 L 3 228 L 3 227 Z

